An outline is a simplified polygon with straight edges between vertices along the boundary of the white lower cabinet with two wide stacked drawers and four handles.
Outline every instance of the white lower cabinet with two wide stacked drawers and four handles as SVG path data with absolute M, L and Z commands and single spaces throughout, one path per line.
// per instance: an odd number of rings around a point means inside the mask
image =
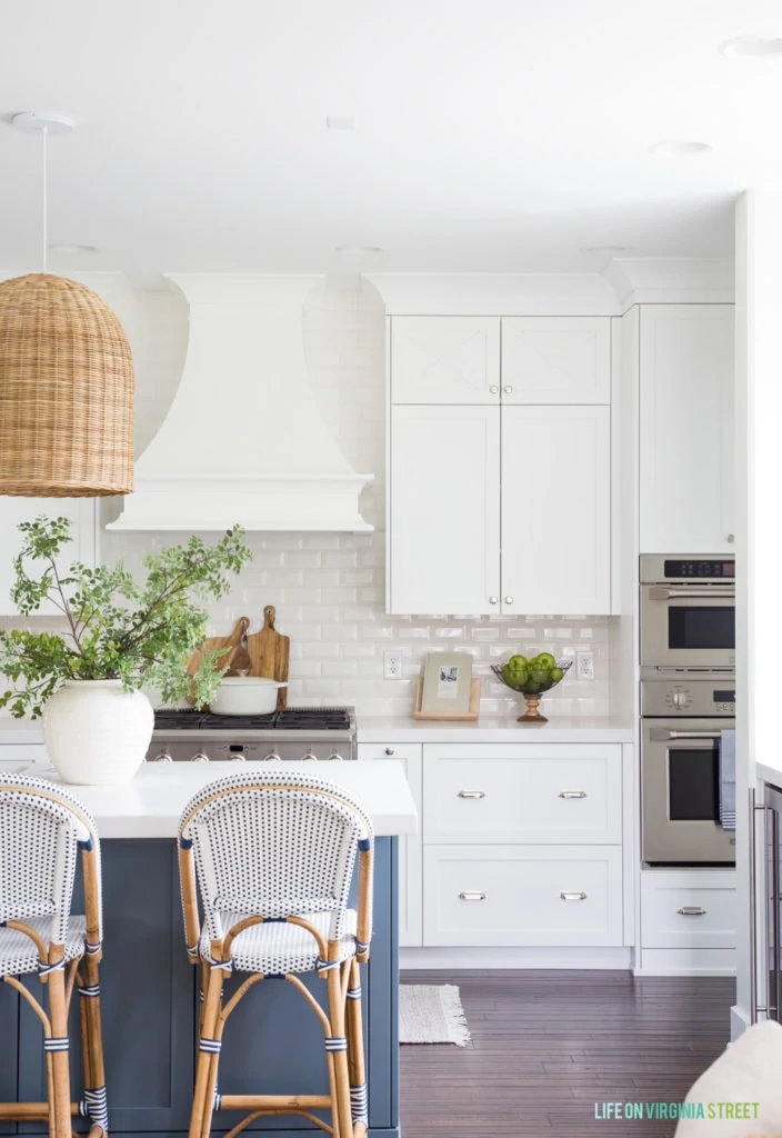
M 612 743 L 424 744 L 424 947 L 621 947 L 622 762 Z

